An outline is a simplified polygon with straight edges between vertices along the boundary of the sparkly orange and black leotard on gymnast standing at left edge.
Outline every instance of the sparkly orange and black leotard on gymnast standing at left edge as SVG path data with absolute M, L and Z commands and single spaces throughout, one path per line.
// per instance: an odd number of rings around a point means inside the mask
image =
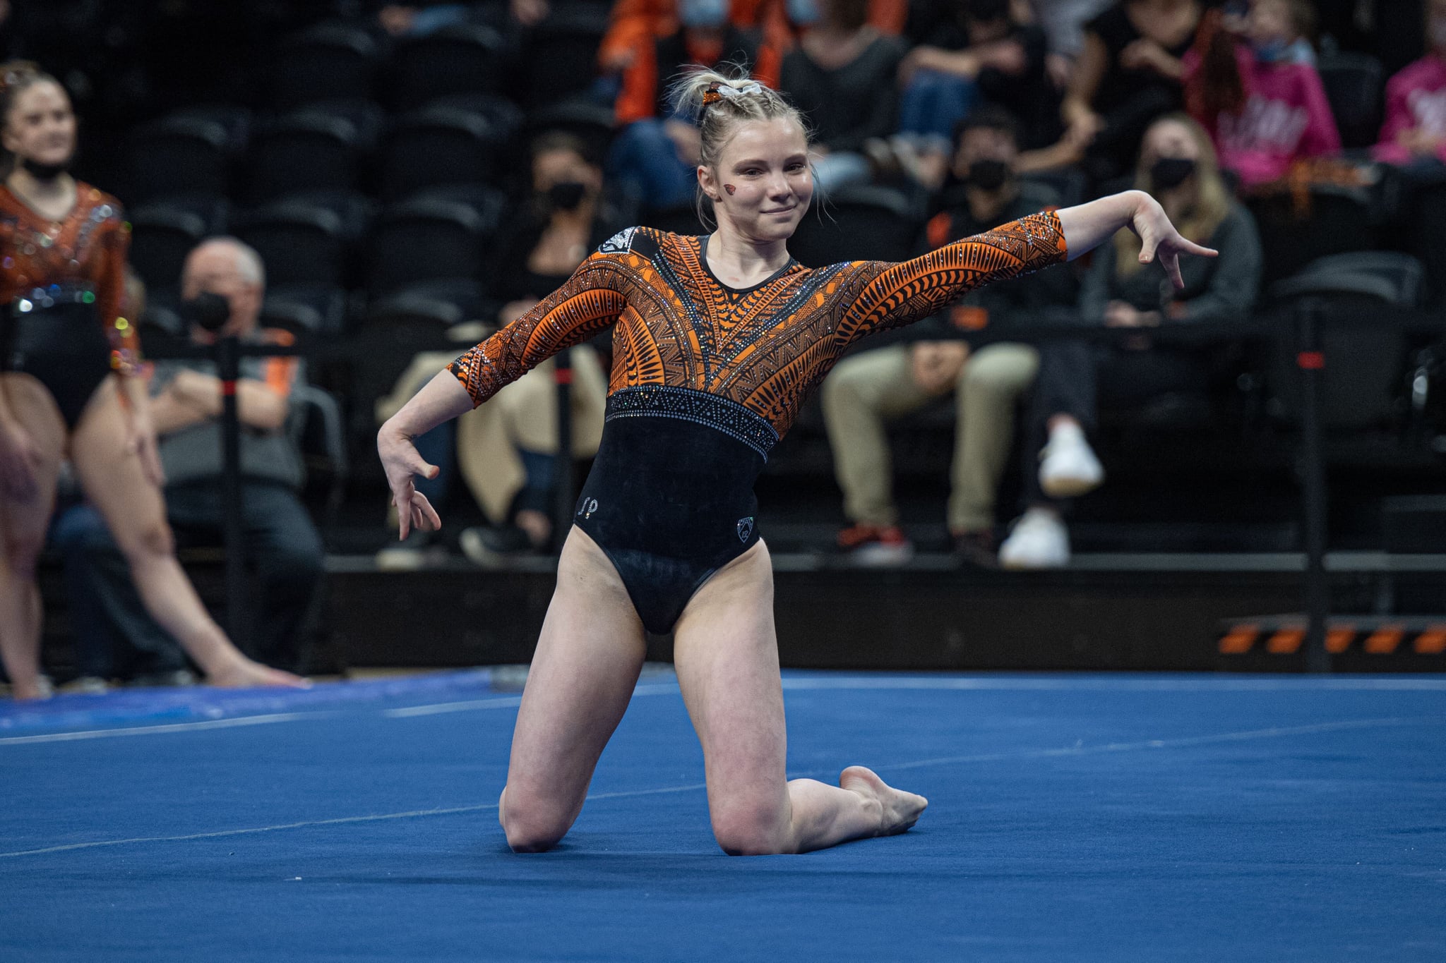
M 108 193 L 77 183 L 75 206 L 51 221 L 0 185 L 0 361 L 39 378 L 69 427 L 107 374 L 140 365 L 136 326 L 120 310 L 129 247 Z

